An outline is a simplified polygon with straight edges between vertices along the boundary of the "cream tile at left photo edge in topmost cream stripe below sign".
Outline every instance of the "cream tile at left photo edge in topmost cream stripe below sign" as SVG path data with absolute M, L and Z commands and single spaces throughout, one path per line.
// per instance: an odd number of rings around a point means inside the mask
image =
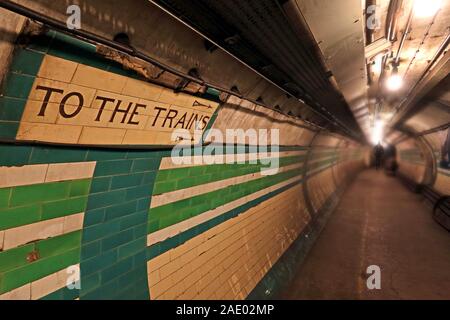
M 44 183 L 47 169 L 48 164 L 0 167 L 0 188 Z

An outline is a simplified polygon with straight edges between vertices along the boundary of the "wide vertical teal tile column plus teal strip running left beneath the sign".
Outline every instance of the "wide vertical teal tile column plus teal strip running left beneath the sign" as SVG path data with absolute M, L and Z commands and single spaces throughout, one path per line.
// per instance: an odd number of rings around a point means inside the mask
M 150 150 L 0 144 L 0 166 L 97 162 L 77 257 L 81 290 L 68 293 L 64 289 L 46 298 L 149 298 L 147 219 L 162 154 Z

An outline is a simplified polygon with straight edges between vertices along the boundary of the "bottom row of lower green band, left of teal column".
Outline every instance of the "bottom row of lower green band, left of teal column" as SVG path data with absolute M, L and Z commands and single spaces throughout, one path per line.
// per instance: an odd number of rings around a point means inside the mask
M 68 266 L 79 263 L 80 249 L 74 249 L 58 256 L 39 259 L 26 266 L 0 275 L 0 294 L 41 279 Z

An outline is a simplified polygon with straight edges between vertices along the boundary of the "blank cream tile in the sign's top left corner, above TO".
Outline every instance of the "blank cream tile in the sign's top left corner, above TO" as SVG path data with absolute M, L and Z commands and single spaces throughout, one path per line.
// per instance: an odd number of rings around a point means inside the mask
M 42 61 L 38 77 L 70 82 L 78 64 L 73 61 L 61 59 L 51 55 L 45 55 Z

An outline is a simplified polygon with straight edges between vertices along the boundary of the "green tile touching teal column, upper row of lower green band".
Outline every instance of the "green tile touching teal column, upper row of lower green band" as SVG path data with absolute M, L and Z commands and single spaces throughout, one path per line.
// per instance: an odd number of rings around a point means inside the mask
M 80 246 L 81 230 L 39 241 L 36 243 L 36 250 L 39 252 L 39 257 L 45 259 L 63 254 Z

